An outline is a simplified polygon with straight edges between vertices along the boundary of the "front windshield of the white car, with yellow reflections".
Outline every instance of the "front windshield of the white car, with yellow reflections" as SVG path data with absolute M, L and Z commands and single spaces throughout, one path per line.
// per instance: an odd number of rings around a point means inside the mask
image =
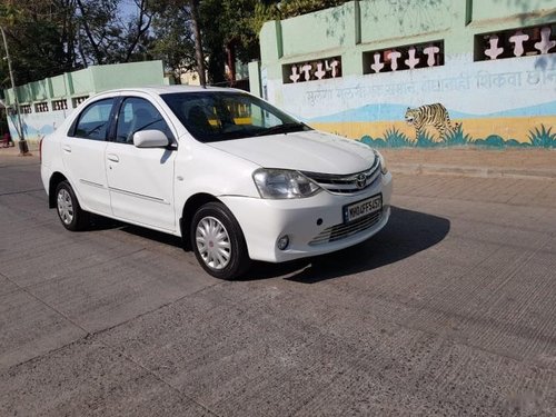
M 240 91 L 207 90 L 161 97 L 201 142 L 311 130 L 269 103 Z

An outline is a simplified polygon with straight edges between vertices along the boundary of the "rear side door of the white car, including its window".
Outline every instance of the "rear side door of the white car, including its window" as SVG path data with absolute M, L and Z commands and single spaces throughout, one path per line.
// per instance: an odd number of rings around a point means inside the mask
M 87 106 L 61 140 L 66 173 L 83 209 L 110 215 L 105 151 L 115 98 Z

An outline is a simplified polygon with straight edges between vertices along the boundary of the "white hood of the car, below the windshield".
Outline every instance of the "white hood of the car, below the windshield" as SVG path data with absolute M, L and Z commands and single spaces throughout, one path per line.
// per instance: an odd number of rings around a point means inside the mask
M 367 145 L 314 130 L 208 145 L 264 168 L 322 173 L 346 175 L 364 171 L 376 158 Z

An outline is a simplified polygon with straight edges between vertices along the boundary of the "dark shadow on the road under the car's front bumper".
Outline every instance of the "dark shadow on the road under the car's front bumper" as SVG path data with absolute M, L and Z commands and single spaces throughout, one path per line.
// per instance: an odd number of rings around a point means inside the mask
M 450 221 L 446 218 L 393 207 L 388 225 L 363 244 L 292 262 L 257 262 L 244 280 L 286 276 L 285 279 L 291 281 L 316 284 L 369 271 L 437 245 L 449 230 Z

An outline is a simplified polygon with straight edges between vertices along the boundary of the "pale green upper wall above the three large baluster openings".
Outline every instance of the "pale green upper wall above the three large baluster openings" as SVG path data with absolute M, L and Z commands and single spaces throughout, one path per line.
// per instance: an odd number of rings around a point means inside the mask
M 361 75 L 361 52 L 444 39 L 445 53 L 471 53 L 474 37 L 556 20 L 555 0 L 360 0 L 270 21 L 260 32 L 261 69 L 341 54 L 344 77 Z

